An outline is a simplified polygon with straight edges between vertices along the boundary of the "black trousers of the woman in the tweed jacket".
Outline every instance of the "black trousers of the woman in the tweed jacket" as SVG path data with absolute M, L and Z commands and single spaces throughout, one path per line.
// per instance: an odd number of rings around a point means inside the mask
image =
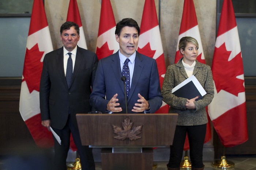
M 206 134 L 206 124 L 195 126 L 176 126 L 173 145 L 170 146 L 170 160 L 167 164 L 170 168 L 180 167 L 187 133 L 192 167 L 203 167 L 203 146 Z

